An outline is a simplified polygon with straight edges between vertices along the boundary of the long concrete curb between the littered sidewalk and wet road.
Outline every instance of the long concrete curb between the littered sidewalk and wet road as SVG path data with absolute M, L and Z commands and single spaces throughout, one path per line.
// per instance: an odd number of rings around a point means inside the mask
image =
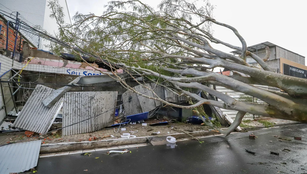
M 293 125 L 299 123 L 282 123 L 276 124 L 275 126 L 285 126 L 285 125 Z M 264 126 L 254 127 L 246 129 L 247 131 L 251 130 L 259 130 L 265 128 Z M 202 130 L 189 132 L 194 137 L 207 136 L 213 134 L 220 134 L 215 131 Z M 136 137 L 136 138 L 118 138 L 118 139 L 109 139 L 109 140 L 99 140 L 99 141 L 83 141 L 83 142 L 62 142 L 62 143 L 50 143 L 50 144 L 42 144 L 40 153 L 59 153 L 65 151 L 75 151 L 75 150 L 84 150 L 84 149 L 95 149 L 95 148 L 104 148 L 111 146 L 124 146 L 124 145 L 132 145 L 132 144 L 141 144 L 141 143 L 150 143 L 152 140 L 163 139 L 166 140 L 167 136 L 172 136 L 176 139 L 182 138 L 191 138 L 188 134 L 185 133 L 176 133 L 176 134 L 166 134 L 166 135 L 156 135 L 156 136 L 145 136 L 145 137 Z

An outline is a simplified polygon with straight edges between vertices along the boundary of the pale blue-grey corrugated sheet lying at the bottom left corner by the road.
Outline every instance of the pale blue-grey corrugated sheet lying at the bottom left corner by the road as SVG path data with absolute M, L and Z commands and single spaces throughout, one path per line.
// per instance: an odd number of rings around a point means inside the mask
M 0 147 L 0 173 L 24 172 L 37 166 L 41 140 Z

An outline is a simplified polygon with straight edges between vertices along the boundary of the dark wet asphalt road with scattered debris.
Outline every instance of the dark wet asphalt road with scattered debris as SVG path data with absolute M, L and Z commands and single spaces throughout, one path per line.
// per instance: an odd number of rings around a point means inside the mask
M 250 133 L 258 138 L 249 139 Z M 176 142 L 174 148 L 169 145 L 143 146 L 129 148 L 132 153 L 124 154 L 103 155 L 106 151 L 99 151 L 93 152 L 90 157 L 80 154 L 44 157 L 38 159 L 36 169 L 37 173 L 52 174 L 307 173 L 306 133 L 307 124 L 299 124 L 231 134 L 227 138 L 203 138 L 203 143 L 181 141 Z M 278 141 L 273 135 L 292 141 Z M 302 137 L 302 140 L 294 140 L 294 135 Z M 256 154 L 245 152 L 245 148 Z M 282 149 L 291 151 L 284 152 Z M 279 156 L 270 154 L 270 151 L 278 152 Z M 260 165 L 259 162 L 266 164 Z

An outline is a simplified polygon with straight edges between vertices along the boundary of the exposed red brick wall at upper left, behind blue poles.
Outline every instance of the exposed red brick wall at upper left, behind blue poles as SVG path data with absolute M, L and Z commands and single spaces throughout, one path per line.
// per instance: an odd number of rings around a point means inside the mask
M 0 35 L 0 49 L 6 49 L 6 24 L 7 22 L 4 20 L 0 20 L 0 25 L 2 25 L 1 29 L 1 35 Z M 9 28 L 9 40 L 8 40 L 8 50 L 13 51 L 14 50 L 14 44 L 15 44 L 15 37 L 16 37 L 16 30 L 10 25 Z M 20 41 L 20 35 L 18 33 L 17 40 L 16 40 L 16 52 L 19 51 L 19 41 Z M 21 50 L 22 50 L 22 41 L 21 40 Z

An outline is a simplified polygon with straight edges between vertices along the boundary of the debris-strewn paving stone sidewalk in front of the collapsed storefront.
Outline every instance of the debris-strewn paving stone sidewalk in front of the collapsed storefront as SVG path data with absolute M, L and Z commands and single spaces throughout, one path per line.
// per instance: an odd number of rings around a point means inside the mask
M 298 123 L 295 121 L 274 119 L 274 118 L 261 118 L 261 119 L 268 119 L 271 122 L 275 123 L 275 126 L 283 125 L 283 124 Z M 259 123 L 257 121 L 251 121 L 251 123 L 245 123 L 245 124 L 255 129 L 259 127 L 263 127 L 262 123 Z M 182 132 L 173 130 L 172 127 L 175 127 L 176 129 L 179 129 L 179 130 L 185 130 L 187 132 L 212 129 L 211 127 L 208 127 L 208 126 L 188 124 L 188 123 L 169 123 L 167 125 L 160 125 L 160 126 L 150 126 L 150 125 L 142 126 L 141 123 L 135 124 L 135 125 L 126 124 L 124 126 L 126 130 L 122 131 L 120 129 L 118 133 L 116 133 L 118 127 L 115 127 L 115 130 L 114 128 L 112 128 L 112 129 L 107 129 L 107 130 L 99 130 L 99 131 L 95 131 L 91 133 L 75 134 L 75 135 L 67 135 L 67 136 L 61 136 L 62 132 L 58 131 L 54 135 L 44 136 L 42 143 L 48 144 L 48 143 L 58 143 L 58 142 L 82 142 L 82 141 L 88 141 L 90 137 L 96 137 L 97 140 L 117 139 L 117 138 L 121 138 L 120 135 L 122 135 L 123 133 L 130 133 L 131 135 L 135 135 L 137 137 L 160 136 L 160 135 L 167 135 L 167 134 L 174 134 L 174 133 L 182 133 Z M 148 130 L 151 130 L 151 131 L 148 131 Z M 129 132 L 129 131 L 134 131 L 135 133 Z M 159 134 L 151 135 L 153 132 L 158 132 L 158 131 L 160 132 Z M 108 135 L 113 135 L 114 137 L 104 138 L 105 136 L 108 136 Z M 26 139 L 26 138 L 27 137 L 25 136 L 24 131 L 0 133 L 0 144 L 16 142 L 16 141 Z M 37 138 L 30 138 L 22 142 L 33 141 L 33 140 L 37 140 Z

